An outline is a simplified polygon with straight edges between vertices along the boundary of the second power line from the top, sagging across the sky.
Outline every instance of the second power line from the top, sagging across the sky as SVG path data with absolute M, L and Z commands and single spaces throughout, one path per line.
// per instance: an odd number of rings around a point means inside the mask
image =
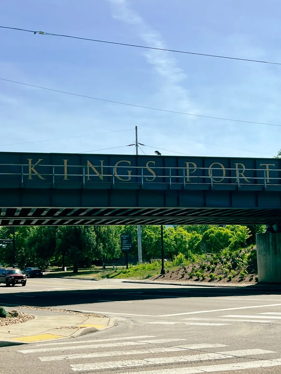
M 254 124 L 254 125 L 268 125 L 268 126 L 278 126 L 278 127 L 281 127 L 281 125 L 276 125 L 274 123 L 253 122 L 253 121 L 244 121 L 244 120 L 239 120 L 239 119 L 231 119 L 231 118 L 223 118 L 223 117 L 203 116 L 202 114 L 193 114 L 193 113 L 179 112 L 179 111 L 175 111 L 175 110 L 167 110 L 167 109 L 160 109 L 160 108 L 154 108 L 154 107 L 145 107 L 144 105 L 129 104 L 127 102 L 101 99 L 101 98 L 97 98 L 97 97 L 93 97 L 93 96 L 80 95 L 79 93 L 73 93 L 73 92 L 67 92 L 67 91 L 60 91 L 60 90 L 56 90 L 56 89 L 53 89 L 53 88 L 47 88 L 47 87 L 42 87 L 42 86 L 30 85 L 28 83 L 18 82 L 16 80 L 10 80 L 10 79 L 4 79 L 4 78 L 0 78 L 0 80 L 4 80 L 6 82 L 17 83 L 19 85 L 40 88 L 40 89 L 47 90 L 47 91 L 52 91 L 52 92 L 66 93 L 67 95 L 72 95 L 72 96 L 79 96 L 79 97 L 84 97 L 84 98 L 93 99 L 93 100 L 111 102 L 111 103 L 114 103 L 114 104 L 127 105 L 129 107 L 136 107 L 136 108 L 149 109 L 149 110 L 157 110 L 157 111 L 166 112 L 166 113 L 184 114 L 185 116 L 211 118 L 211 119 L 218 119 L 218 120 L 232 121 L 232 122 L 251 123 L 251 124 Z

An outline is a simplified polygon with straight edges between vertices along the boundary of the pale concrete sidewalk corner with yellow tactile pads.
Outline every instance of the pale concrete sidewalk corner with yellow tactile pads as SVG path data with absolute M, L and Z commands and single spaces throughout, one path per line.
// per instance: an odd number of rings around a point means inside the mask
M 23 309 L 18 308 L 18 311 Z M 21 324 L 1 326 L 0 347 L 76 337 L 102 331 L 114 326 L 115 323 L 115 320 L 109 317 L 93 318 L 79 314 L 48 313 L 47 310 L 46 312 L 47 315 L 43 315 L 36 313 L 35 310 L 28 310 L 27 313 L 35 315 L 35 319 Z

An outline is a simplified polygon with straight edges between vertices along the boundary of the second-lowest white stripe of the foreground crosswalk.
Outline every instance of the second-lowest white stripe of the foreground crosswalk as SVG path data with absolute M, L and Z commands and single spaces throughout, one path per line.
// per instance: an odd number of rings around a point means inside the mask
M 253 353 L 254 352 L 254 353 Z M 262 355 L 265 353 L 272 353 L 272 351 L 266 351 L 262 349 L 245 349 L 238 351 L 231 351 L 230 354 L 224 352 L 217 353 L 202 353 L 200 355 L 188 355 L 188 356 L 171 356 L 171 357 L 156 357 L 156 358 L 145 358 L 139 360 L 123 360 L 123 361 L 111 361 L 111 362 L 96 362 L 91 364 L 72 364 L 70 367 L 73 371 L 86 371 L 86 370 L 101 370 L 111 368 L 124 368 L 124 367 L 135 367 L 145 365 L 161 365 L 161 364 L 174 364 L 182 362 L 192 361 L 208 361 L 208 360 L 221 360 L 240 356 L 250 355 Z

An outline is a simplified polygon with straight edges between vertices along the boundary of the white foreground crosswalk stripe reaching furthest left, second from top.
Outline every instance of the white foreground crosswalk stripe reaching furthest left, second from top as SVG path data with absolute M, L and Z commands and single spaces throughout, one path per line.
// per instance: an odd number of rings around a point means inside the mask
M 87 344 L 87 345 L 72 346 L 72 347 L 22 349 L 22 350 L 18 350 L 18 352 L 26 354 L 26 353 L 53 352 L 53 351 L 71 350 L 71 349 L 86 349 L 86 348 L 96 349 L 96 348 L 111 348 L 111 347 L 122 347 L 122 346 L 143 346 L 143 345 L 148 345 L 148 344 L 169 343 L 172 341 L 181 341 L 181 340 L 187 340 L 187 339 L 155 339 L 155 340 L 141 340 L 141 341 L 124 341 L 121 343 Z

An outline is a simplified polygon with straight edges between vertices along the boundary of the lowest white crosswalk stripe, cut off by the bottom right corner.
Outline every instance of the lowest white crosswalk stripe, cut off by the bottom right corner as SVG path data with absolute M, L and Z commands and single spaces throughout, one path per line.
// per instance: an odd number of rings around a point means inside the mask
M 274 366 L 281 366 L 281 358 L 276 358 L 273 360 L 249 361 L 249 362 L 239 362 L 239 363 L 236 362 L 234 364 L 193 366 L 189 368 L 134 371 L 134 374 L 203 374 L 203 373 L 215 373 L 215 372 L 217 373 L 219 371 L 269 368 L 269 367 L 274 367 Z M 132 371 L 127 371 L 127 372 L 123 372 L 120 374 L 132 374 Z

